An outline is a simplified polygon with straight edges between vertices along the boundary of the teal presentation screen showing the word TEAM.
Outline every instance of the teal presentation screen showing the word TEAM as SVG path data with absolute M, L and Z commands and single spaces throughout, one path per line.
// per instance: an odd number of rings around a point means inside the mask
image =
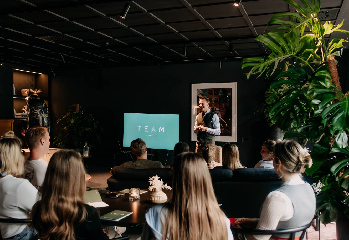
M 173 150 L 179 141 L 179 115 L 124 113 L 124 147 L 137 138 L 148 148 Z

